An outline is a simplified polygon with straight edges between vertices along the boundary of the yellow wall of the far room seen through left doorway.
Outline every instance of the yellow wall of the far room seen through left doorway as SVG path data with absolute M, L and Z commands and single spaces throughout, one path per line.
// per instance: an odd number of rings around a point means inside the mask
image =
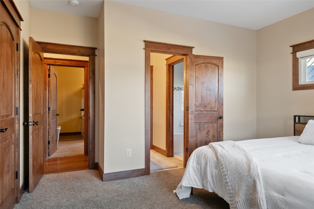
M 84 84 L 84 68 L 52 66 L 58 71 L 58 114 L 57 125 L 60 133 L 82 131 L 82 85 Z M 74 124 L 74 125 L 73 125 Z

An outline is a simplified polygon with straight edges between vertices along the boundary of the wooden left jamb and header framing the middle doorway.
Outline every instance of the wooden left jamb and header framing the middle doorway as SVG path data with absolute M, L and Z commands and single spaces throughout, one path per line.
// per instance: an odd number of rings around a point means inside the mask
M 162 54 L 173 54 L 173 55 L 181 55 L 186 56 L 192 54 L 193 46 L 183 46 L 183 45 L 173 45 L 161 42 L 153 42 L 144 40 L 145 43 L 145 175 L 150 174 L 150 147 L 151 147 L 151 130 L 152 130 L 152 122 L 151 122 L 151 52 L 162 53 Z M 185 76 L 185 75 L 184 75 Z M 186 81 L 188 82 L 188 77 L 186 77 Z M 186 82 L 184 83 L 184 89 Z M 186 92 L 187 89 L 186 89 Z M 184 95 L 186 102 L 186 95 Z M 188 104 L 188 103 L 186 103 Z M 184 113 L 186 113 L 186 109 L 184 107 Z M 186 116 L 186 114 L 184 114 Z M 184 117 L 184 126 L 185 122 L 188 118 Z M 184 142 L 185 138 L 188 137 L 186 133 L 184 133 Z

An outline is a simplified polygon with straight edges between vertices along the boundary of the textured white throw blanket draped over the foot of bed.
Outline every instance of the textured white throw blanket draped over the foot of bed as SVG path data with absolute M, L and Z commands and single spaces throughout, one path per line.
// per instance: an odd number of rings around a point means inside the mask
M 258 164 L 234 141 L 209 143 L 222 173 L 231 209 L 266 209 Z

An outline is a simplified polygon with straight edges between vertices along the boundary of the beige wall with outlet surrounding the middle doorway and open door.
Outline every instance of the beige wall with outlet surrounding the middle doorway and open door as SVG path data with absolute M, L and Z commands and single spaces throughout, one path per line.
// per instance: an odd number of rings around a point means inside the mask
M 224 57 L 224 139 L 256 137 L 254 30 L 105 1 L 105 173 L 144 167 L 143 40 Z M 126 158 L 126 149 L 132 157 Z M 114 159 L 114 160 L 113 160 Z

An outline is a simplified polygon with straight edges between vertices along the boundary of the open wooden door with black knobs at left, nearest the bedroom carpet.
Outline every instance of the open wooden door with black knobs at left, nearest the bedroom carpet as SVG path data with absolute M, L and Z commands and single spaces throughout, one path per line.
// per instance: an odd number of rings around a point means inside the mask
M 48 143 L 47 79 L 44 52 L 29 37 L 28 67 L 28 125 L 29 125 L 29 192 L 32 192 L 44 174 L 44 143 Z

